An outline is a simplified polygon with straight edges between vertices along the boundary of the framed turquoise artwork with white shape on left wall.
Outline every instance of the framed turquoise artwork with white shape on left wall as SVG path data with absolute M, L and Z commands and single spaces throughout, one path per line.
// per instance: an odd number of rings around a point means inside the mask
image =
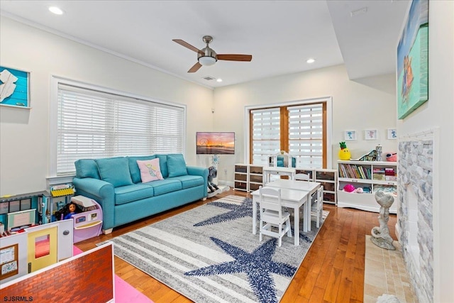
M 30 107 L 30 72 L 0 66 L 0 104 Z

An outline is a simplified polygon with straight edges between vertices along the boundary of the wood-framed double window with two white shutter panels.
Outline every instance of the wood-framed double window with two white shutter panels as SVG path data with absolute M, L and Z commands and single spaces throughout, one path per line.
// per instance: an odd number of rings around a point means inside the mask
M 250 163 L 268 165 L 268 156 L 280 150 L 295 156 L 298 167 L 326 168 L 331 162 L 331 98 L 249 109 L 249 116 Z

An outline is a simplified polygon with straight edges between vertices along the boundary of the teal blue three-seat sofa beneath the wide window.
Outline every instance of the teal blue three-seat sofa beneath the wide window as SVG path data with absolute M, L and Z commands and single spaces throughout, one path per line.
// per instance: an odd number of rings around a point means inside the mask
M 163 180 L 143 183 L 137 160 L 155 158 Z M 74 164 L 76 194 L 101 205 L 104 233 L 207 196 L 208 169 L 187 166 L 182 154 L 81 159 Z

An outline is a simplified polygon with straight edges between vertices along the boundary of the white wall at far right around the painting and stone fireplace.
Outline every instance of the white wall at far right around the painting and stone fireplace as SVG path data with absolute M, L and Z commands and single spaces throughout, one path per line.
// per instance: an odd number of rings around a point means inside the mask
M 454 302 L 454 1 L 429 2 L 428 101 L 397 123 L 400 136 L 438 129 L 433 163 L 433 302 Z

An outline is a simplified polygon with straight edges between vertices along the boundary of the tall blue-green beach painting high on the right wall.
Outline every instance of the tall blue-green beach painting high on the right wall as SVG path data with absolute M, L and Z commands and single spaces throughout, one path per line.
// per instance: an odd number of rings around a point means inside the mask
M 397 45 L 397 118 L 428 100 L 428 0 L 412 0 Z

